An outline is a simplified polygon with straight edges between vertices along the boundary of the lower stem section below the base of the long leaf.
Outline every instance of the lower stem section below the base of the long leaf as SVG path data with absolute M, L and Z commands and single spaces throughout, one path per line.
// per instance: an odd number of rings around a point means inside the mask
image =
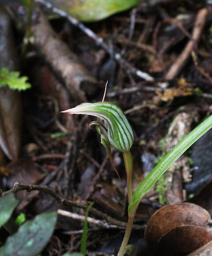
M 125 254 L 126 246 L 128 244 L 131 231 L 133 229 L 133 222 L 134 222 L 134 219 L 135 219 L 135 216 L 136 216 L 137 206 L 133 207 L 133 209 L 129 212 L 129 218 L 128 218 L 128 222 L 127 222 L 127 228 L 126 228 L 126 231 L 125 231 L 125 236 L 123 238 L 123 241 L 121 243 L 121 247 L 119 249 L 119 252 L 118 252 L 117 256 L 124 256 L 124 254 Z

